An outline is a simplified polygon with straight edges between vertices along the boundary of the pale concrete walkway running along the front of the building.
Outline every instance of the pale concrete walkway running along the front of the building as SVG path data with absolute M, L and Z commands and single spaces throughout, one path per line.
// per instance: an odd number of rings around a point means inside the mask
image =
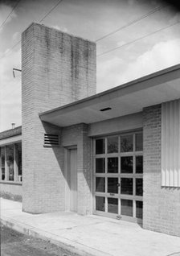
M 134 223 L 75 213 L 22 212 L 22 204 L 1 199 L 1 221 L 22 233 L 80 255 L 180 256 L 180 237 L 141 229 Z

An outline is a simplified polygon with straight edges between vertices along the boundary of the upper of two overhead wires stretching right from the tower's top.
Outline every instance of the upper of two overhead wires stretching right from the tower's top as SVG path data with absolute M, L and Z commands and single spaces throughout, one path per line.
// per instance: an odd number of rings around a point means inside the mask
M 166 5 L 166 6 L 167 6 L 167 5 Z M 165 8 L 166 6 L 159 6 L 159 7 L 155 8 L 155 9 L 153 9 L 153 10 L 150 10 L 147 14 L 145 14 L 145 15 L 139 17 L 138 19 L 134 19 L 134 20 L 131 21 L 130 23 L 127 23 L 127 24 L 125 24 L 124 26 L 117 28 L 117 30 L 112 31 L 112 32 L 110 32 L 110 33 L 108 33 L 108 34 L 106 34 L 106 35 L 100 37 L 99 39 L 96 39 L 95 42 L 97 43 L 97 42 L 99 42 L 100 40 L 105 39 L 105 38 L 107 38 L 108 36 L 113 35 L 113 34 L 117 33 L 118 31 L 121 31 L 121 30 L 125 29 L 126 27 L 129 27 L 129 26 L 133 25 L 134 23 L 139 22 L 141 19 L 145 19 L 146 17 L 148 17 L 148 16 L 154 14 L 155 12 L 157 12 L 157 11 L 159 11 L 159 10 L 162 10 L 162 9 Z

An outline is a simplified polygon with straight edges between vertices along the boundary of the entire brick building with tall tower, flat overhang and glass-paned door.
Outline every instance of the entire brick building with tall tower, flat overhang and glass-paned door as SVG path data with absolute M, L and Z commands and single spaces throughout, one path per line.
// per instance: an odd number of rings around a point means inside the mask
M 0 134 L 1 196 L 180 236 L 180 65 L 96 94 L 96 44 L 32 23 L 22 92 L 22 132 Z

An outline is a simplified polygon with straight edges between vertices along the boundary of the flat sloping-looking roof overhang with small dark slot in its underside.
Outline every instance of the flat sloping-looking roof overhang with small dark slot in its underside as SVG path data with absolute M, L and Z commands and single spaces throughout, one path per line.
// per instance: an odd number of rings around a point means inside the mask
M 40 113 L 55 126 L 93 123 L 141 112 L 143 108 L 180 98 L 180 64 L 102 93 Z M 107 111 L 100 109 L 111 108 Z

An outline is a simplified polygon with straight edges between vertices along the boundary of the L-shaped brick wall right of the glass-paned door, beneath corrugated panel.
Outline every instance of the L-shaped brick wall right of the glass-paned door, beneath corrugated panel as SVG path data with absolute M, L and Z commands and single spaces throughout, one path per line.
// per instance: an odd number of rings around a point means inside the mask
M 162 108 L 143 110 L 143 227 L 180 236 L 180 188 L 163 188 L 161 179 Z

